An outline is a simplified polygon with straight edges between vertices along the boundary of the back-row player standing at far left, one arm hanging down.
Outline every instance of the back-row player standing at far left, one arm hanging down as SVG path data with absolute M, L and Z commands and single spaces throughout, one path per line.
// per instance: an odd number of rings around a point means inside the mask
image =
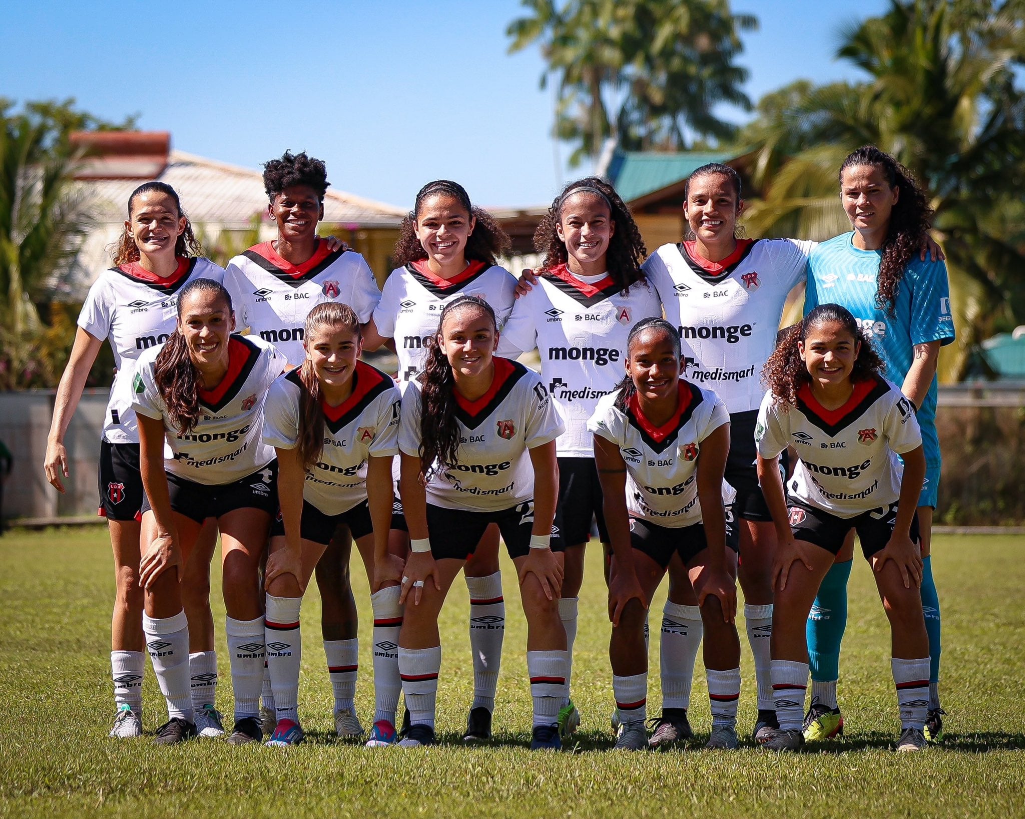
M 142 589 L 138 584 L 139 507 L 138 427 L 130 394 L 140 353 L 173 332 L 181 289 L 197 279 L 220 281 L 224 272 L 206 258 L 174 189 L 164 182 L 140 185 L 128 197 L 128 218 L 115 251 L 114 267 L 104 271 L 86 296 L 68 366 L 57 386 L 46 446 L 46 480 L 59 492 L 68 478 L 64 438 L 82 397 L 86 378 L 107 339 L 117 372 L 104 417 L 99 449 L 99 515 L 107 518 L 114 549 L 117 596 L 111 623 L 111 666 L 117 715 L 112 737 L 142 734 Z M 186 576 L 182 603 L 190 624 L 190 687 L 200 736 L 223 734 L 214 707 L 217 655 L 210 613 L 209 564 L 217 529 L 207 522 L 194 549 L 196 573 Z M 205 557 L 205 560 L 203 559 Z

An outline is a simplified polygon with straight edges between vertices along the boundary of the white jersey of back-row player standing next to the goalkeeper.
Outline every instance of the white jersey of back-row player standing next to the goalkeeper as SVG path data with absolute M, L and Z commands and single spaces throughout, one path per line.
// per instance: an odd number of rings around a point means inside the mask
M 666 320 L 679 328 L 687 378 L 714 387 L 731 413 L 756 410 L 786 296 L 805 281 L 815 243 L 740 240 L 719 263 L 689 245 L 662 245 L 644 263 Z

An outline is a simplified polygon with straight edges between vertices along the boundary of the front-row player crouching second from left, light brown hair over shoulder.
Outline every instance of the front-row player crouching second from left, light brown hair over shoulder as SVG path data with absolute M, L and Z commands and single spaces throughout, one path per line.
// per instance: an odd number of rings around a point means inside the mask
M 339 524 L 356 540 L 371 592 L 381 590 L 373 582 L 374 544 L 381 540 L 376 550 L 387 552 L 392 458 L 399 454 L 399 391 L 392 378 L 358 360 L 356 313 L 325 301 L 310 312 L 304 329 L 305 361 L 271 385 L 263 406 L 263 443 L 277 451 L 281 504 L 264 572 L 266 663 L 278 715 L 268 744 L 281 746 L 303 738 L 296 709 L 302 592 Z M 398 602 L 399 584 L 388 582 Z M 395 634 L 378 634 L 375 627 L 375 644 L 387 637 Z M 374 688 L 375 725 L 391 727 L 378 744 L 389 744 L 401 690 L 398 657 L 375 657 Z

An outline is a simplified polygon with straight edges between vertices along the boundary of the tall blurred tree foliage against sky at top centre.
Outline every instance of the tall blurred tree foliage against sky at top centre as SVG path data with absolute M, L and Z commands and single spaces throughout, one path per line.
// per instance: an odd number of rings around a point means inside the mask
M 734 65 L 738 32 L 756 27 L 726 0 L 523 0 L 509 51 L 539 43 L 541 76 L 558 81 L 555 133 L 570 162 L 597 159 L 610 136 L 626 150 L 680 151 L 695 138 L 726 139 L 735 127 L 711 113 L 744 109 L 747 72 Z

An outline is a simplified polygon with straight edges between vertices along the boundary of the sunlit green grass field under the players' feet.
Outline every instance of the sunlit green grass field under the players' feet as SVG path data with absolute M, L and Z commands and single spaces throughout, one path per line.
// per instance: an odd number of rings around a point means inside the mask
M 779 756 L 754 747 L 704 751 L 709 718 L 704 678 L 695 675 L 694 749 L 664 754 L 610 750 L 609 624 L 597 549 L 581 592 L 574 699 L 583 714 L 576 752 L 531 753 L 525 625 L 511 566 L 493 746 L 459 740 L 473 690 L 466 591 L 458 582 L 443 612 L 445 647 L 438 725 L 442 743 L 423 750 L 366 750 L 328 731 L 331 694 L 320 646 L 319 600 L 303 608 L 300 713 L 306 744 L 281 751 L 192 742 L 158 748 L 149 738 L 107 738 L 110 547 L 105 529 L 13 532 L 0 540 L 0 815 L 149 816 L 916 816 L 1025 814 L 1025 538 L 938 537 L 934 570 L 943 603 L 945 747 L 892 750 L 898 733 L 889 638 L 867 567 L 851 580 L 851 622 L 840 701 L 848 736 L 819 752 Z M 358 567 L 354 566 L 354 573 Z M 372 712 L 369 602 L 356 574 L 361 612 L 357 705 Z M 663 595 L 653 603 L 660 611 Z M 223 609 L 215 589 L 221 685 Z M 658 622 L 657 617 L 652 618 Z M 652 629 L 649 713 L 657 713 L 658 639 Z M 738 728 L 754 719 L 746 641 Z M 145 724 L 164 720 L 148 669 Z

